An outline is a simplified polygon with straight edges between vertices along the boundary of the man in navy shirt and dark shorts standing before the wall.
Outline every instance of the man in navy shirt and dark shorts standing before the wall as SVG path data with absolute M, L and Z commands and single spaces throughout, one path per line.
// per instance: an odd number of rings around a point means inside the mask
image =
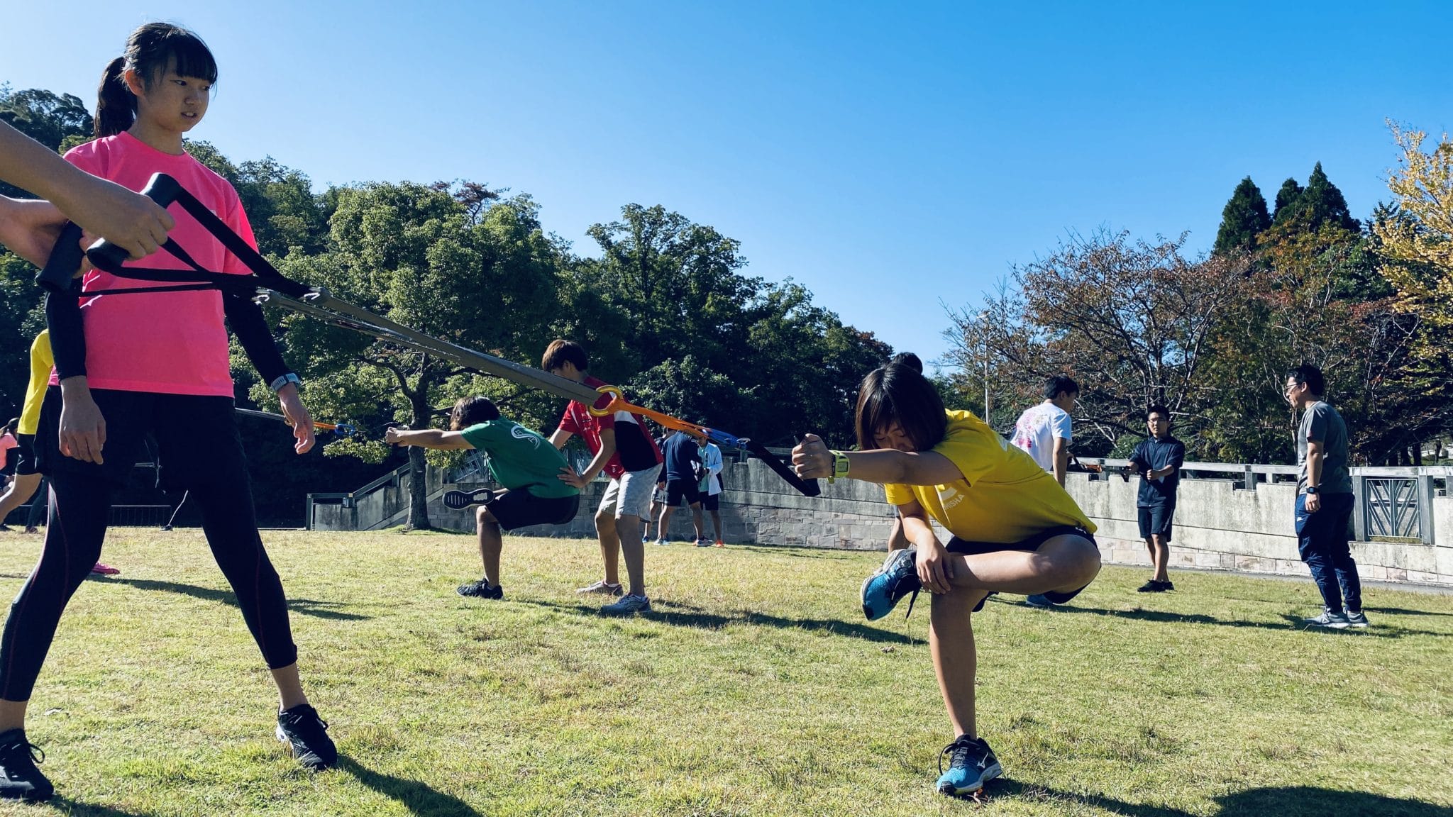
M 1141 493 L 1135 507 L 1141 518 L 1141 538 L 1151 551 L 1155 573 L 1141 584 L 1141 593 L 1174 590 L 1167 567 L 1171 558 L 1171 519 L 1175 516 L 1175 488 L 1180 470 L 1186 464 L 1186 443 L 1171 436 L 1171 410 L 1155 404 L 1145 411 L 1145 426 L 1151 436 L 1141 440 L 1130 454 L 1130 465 L 1141 474 Z

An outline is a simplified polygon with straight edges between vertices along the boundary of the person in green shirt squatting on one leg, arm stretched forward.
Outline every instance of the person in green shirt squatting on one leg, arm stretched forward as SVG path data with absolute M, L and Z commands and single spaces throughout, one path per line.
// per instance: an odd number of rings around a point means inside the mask
M 500 417 L 487 397 L 462 397 L 449 416 L 449 430 L 388 429 L 384 439 L 421 448 L 474 448 L 490 455 L 490 471 L 504 486 L 475 512 L 484 579 L 459 586 L 461 596 L 503 599 L 501 531 L 530 525 L 564 525 L 580 509 L 580 488 L 559 478 L 565 455 L 538 432 Z

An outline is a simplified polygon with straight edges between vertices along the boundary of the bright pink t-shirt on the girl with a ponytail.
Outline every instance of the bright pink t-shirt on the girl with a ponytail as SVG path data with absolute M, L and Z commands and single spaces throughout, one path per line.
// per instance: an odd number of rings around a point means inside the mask
M 116 134 L 71 148 L 71 164 L 141 190 L 153 173 L 166 173 L 227 222 L 253 247 L 253 228 L 237 190 L 189 154 L 161 153 L 131 134 Z M 180 206 L 173 206 L 176 230 L 170 237 L 202 269 L 250 275 L 241 260 L 202 228 Z M 166 250 L 126 266 L 189 269 Z M 150 281 L 116 278 L 99 269 L 86 273 L 83 291 L 163 286 Z M 157 292 L 155 295 L 97 295 L 83 299 L 86 381 L 92 388 L 161 394 L 232 395 L 222 295 L 215 289 Z M 51 384 L 57 382 L 51 374 Z

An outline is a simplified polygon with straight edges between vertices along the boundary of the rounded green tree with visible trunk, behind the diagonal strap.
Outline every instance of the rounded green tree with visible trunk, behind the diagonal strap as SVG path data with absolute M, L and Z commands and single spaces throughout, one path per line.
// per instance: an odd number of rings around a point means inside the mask
M 529 362 L 543 347 L 561 259 L 527 196 L 471 211 L 437 186 L 375 183 L 336 190 L 331 202 L 327 250 L 309 256 L 294 247 L 282 260 L 285 275 L 474 349 Z M 385 419 L 421 429 L 464 393 L 510 406 L 523 391 L 305 315 L 285 315 L 282 326 L 291 356 L 304 362 L 305 397 L 320 417 L 369 427 L 382 410 Z M 253 395 L 270 401 L 266 391 L 254 387 Z M 429 528 L 424 455 L 408 451 L 416 474 L 410 525 Z M 376 439 L 331 442 L 325 452 L 375 461 L 388 454 Z

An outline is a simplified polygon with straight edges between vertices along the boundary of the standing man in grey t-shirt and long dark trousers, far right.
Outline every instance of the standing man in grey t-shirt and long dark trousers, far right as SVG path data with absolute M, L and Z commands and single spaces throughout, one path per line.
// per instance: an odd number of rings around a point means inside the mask
M 1302 561 L 1322 592 L 1322 615 L 1314 627 L 1367 627 L 1361 609 L 1361 580 L 1347 539 L 1356 497 L 1347 470 L 1347 423 L 1322 400 L 1327 384 L 1316 366 L 1286 374 L 1286 400 L 1302 411 L 1296 430 L 1296 539 Z M 1345 596 L 1347 608 L 1343 609 Z

